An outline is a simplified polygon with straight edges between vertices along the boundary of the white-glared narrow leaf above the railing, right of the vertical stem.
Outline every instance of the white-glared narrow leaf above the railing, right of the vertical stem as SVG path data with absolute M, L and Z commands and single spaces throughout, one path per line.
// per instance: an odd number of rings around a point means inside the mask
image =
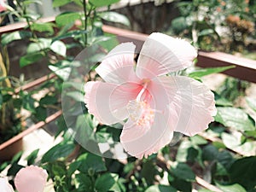
M 108 11 L 108 12 L 102 12 L 99 14 L 99 16 L 103 20 L 108 20 L 110 22 L 115 22 L 115 23 L 121 23 L 124 24 L 125 26 L 130 26 L 130 21 L 125 15 L 121 15 L 119 13 L 113 12 L 113 11 Z

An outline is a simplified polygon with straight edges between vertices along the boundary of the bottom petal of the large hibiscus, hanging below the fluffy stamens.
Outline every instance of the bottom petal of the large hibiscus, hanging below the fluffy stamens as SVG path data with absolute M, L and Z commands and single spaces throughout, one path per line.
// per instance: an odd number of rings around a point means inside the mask
M 172 140 L 172 127 L 166 124 L 163 113 L 155 113 L 152 125 L 137 125 L 128 121 L 120 136 L 120 143 L 128 154 L 139 159 L 157 153 Z

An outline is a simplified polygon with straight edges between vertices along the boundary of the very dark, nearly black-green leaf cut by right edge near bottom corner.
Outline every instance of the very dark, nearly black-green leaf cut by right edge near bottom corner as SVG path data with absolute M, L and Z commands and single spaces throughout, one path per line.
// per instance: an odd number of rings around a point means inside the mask
M 256 187 L 256 156 L 236 160 L 230 167 L 230 179 L 248 190 Z

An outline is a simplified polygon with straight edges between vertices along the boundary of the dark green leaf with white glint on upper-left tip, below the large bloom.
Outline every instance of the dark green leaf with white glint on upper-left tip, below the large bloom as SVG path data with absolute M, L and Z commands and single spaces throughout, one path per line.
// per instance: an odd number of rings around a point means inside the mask
M 183 179 L 184 181 L 195 181 L 195 173 L 192 172 L 191 168 L 185 163 L 174 162 L 171 167 L 171 171 L 173 175 L 180 179 Z

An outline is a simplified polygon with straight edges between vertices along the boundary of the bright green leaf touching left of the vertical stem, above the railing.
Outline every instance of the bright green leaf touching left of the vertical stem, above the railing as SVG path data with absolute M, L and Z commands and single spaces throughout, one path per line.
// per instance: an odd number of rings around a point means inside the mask
M 65 12 L 56 16 L 55 22 L 58 26 L 65 26 L 79 20 L 81 15 L 78 12 Z

